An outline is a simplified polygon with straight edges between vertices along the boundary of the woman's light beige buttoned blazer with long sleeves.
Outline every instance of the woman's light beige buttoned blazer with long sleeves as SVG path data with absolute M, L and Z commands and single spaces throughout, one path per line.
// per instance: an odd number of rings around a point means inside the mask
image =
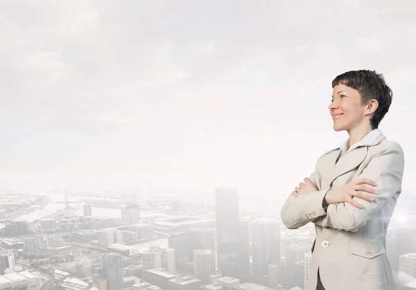
M 396 290 L 385 253 L 385 235 L 401 193 L 404 152 L 382 134 L 374 143 L 353 149 L 337 162 L 340 154 L 336 148 L 318 159 L 310 177 L 318 192 L 300 197 L 291 194 L 281 209 L 287 228 L 315 224 L 306 290 L 316 288 L 318 269 L 327 290 Z M 322 199 L 330 188 L 361 178 L 377 184 L 374 201 L 354 197 L 363 209 L 336 203 L 324 211 Z

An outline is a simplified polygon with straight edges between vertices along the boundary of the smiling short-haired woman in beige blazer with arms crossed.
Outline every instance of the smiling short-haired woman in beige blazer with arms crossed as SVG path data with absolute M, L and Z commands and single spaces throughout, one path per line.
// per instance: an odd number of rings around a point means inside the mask
M 396 290 L 385 235 L 401 193 L 404 153 L 379 123 L 392 91 L 375 71 L 348 71 L 332 82 L 333 129 L 349 139 L 320 156 L 281 209 L 287 228 L 315 224 L 306 290 Z

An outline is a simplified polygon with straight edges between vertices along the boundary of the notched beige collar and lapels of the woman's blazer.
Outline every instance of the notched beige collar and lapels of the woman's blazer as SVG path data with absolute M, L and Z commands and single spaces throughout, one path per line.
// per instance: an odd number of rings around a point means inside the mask
M 324 174 L 324 176 L 328 176 L 330 183 L 332 183 L 338 176 L 343 175 L 360 165 L 367 156 L 368 147 L 378 145 L 384 139 L 385 136 L 381 134 L 372 143 L 363 142 L 352 151 L 348 152 L 348 154 L 343 156 L 343 158 L 340 158 L 340 147 L 329 150 L 324 154 L 324 156 L 322 156 L 324 164 L 321 168 L 321 170 L 324 171 L 322 174 Z M 339 161 L 338 158 L 340 158 Z

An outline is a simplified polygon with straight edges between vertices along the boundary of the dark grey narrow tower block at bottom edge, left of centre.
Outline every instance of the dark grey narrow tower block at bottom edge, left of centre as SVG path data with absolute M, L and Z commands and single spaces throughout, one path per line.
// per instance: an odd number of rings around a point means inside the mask
M 107 280 L 107 290 L 123 289 L 123 266 L 121 254 L 109 253 L 103 257 L 103 274 Z

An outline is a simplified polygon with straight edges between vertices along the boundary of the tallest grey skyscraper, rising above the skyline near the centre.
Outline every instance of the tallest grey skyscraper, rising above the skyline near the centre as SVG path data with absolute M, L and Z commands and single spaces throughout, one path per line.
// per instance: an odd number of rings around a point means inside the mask
M 240 278 L 239 193 L 236 189 L 216 189 L 215 212 L 218 271 L 224 276 Z

